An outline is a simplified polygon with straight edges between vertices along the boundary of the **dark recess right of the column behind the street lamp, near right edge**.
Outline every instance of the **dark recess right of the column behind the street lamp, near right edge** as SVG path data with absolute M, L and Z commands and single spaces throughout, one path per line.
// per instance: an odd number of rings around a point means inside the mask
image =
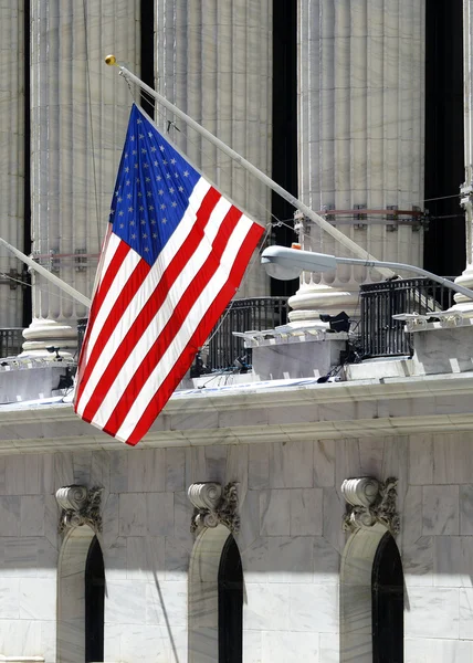
M 424 266 L 444 276 L 465 267 L 465 221 L 459 198 L 464 181 L 462 1 L 429 0 L 425 24 L 425 233 Z

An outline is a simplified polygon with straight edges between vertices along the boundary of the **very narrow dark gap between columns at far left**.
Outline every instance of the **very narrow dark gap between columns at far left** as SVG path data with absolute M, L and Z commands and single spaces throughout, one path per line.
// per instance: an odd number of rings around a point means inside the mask
M 30 0 L 24 0 L 24 189 L 23 189 L 23 246 L 19 246 L 27 255 L 31 253 L 31 113 L 30 113 Z M 22 264 L 22 263 L 21 263 Z M 24 265 L 22 265 L 24 266 Z M 22 281 L 30 282 L 28 272 L 23 269 Z M 23 327 L 32 320 L 31 287 L 23 287 Z

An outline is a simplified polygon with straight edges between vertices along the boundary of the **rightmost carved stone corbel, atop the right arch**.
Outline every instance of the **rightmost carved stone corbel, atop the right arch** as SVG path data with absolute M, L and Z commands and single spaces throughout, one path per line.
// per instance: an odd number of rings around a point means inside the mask
M 400 519 L 396 511 L 398 480 L 389 477 L 385 483 L 371 476 L 346 478 L 341 493 L 347 502 L 344 532 L 369 529 L 380 523 L 392 534 L 399 534 Z

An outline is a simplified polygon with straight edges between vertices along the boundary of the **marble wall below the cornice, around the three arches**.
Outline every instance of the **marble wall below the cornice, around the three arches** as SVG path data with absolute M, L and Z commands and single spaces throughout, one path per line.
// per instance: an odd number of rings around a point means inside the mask
M 70 631 L 67 648 L 59 625 L 81 610 L 80 588 L 63 591 L 71 564 L 82 572 L 81 556 L 64 561 L 55 492 L 81 484 L 103 488 L 105 661 L 217 660 L 201 646 L 216 638 L 202 618 L 209 606 L 188 611 L 195 536 L 187 488 L 203 480 L 239 484 L 244 662 L 368 662 L 369 640 L 354 649 L 340 636 L 344 619 L 359 610 L 344 593 L 350 579 L 340 566 L 349 538 L 341 483 L 370 475 L 398 478 L 406 661 L 469 661 L 471 457 L 467 432 L 1 456 L 0 652 L 75 661 L 64 652 L 83 633 Z

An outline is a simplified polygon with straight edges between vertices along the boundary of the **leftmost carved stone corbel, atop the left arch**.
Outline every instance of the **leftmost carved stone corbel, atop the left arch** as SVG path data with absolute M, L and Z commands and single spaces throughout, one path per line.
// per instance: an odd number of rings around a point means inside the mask
M 61 507 L 57 530 L 63 534 L 72 527 L 88 525 L 94 532 L 102 532 L 101 498 L 103 488 L 85 486 L 63 486 L 56 491 L 56 502 Z

